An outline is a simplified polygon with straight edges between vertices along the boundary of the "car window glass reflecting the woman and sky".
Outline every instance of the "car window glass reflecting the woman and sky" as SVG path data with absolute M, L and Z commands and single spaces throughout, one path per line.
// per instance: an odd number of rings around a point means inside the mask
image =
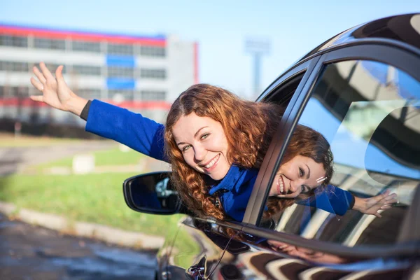
M 346 246 L 393 244 L 420 183 L 419 113 L 420 83 L 404 71 L 367 60 L 325 66 L 274 176 L 260 226 Z M 332 178 L 314 161 L 328 162 L 324 140 Z M 287 197 L 295 188 L 306 193 Z M 366 199 L 385 190 L 398 202 L 379 209 L 381 218 L 349 209 L 352 196 L 367 207 L 373 200 Z

